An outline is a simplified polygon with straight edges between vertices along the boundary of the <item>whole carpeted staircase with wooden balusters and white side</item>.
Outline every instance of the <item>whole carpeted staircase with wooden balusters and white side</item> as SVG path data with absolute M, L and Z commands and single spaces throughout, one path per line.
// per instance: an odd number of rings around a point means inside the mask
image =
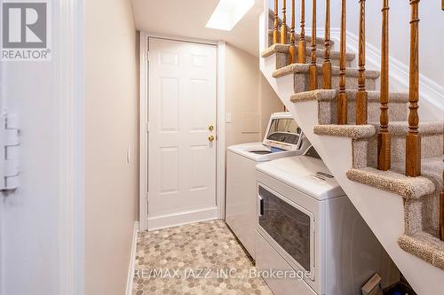
M 261 71 L 416 292 L 439 294 L 444 288 L 444 127 L 441 120 L 420 121 L 417 113 L 419 1 L 410 1 L 408 93 L 389 92 L 388 0 L 381 7 L 381 71 L 365 68 L 365 0 L 358 3 L 359 67 L 351 67 L 356 56 L 345 52 L 346 1 L 341 1 L 338 51 L 331 50 L 329 40 L 329 0 L 326 12 L 316 11 L 315 0 L 312 5 L 312 27 L 316 15 L 325 15 L 324 38 L 305 35 L 304 0 L 298 1 L 298 35 L 295 1 L 289 11 L 282 7 L 282 19 L 278 10 L 284 1 L 275 0 L 272 10 L 266 1 L 260 18 Z

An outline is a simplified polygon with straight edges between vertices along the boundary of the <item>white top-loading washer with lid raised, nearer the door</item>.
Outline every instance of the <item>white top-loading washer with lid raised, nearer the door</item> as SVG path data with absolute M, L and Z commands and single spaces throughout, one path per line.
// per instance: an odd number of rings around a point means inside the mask
M 262 143 L 238 144 L 227 149 L 226 223 L 253 259 L 256 257 L 256 165 L 295 156 L 307 144 L 290 113 L 274 113 Z

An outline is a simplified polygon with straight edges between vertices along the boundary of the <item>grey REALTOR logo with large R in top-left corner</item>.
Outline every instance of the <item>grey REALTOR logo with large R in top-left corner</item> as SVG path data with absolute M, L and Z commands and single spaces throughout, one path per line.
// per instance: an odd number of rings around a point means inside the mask
M 51 60 L 49 3 L 2 2 L 2 61 Z

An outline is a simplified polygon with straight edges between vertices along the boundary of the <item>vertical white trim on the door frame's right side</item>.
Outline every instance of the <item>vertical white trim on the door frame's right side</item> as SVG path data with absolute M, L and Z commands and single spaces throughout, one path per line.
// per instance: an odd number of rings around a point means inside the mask
M 226 206 L 226 43 L 221 41 L 218 43 L 218 99 L 217 99 L 217 132 L 218 132 L 218 165 L 217 165 L 217 206 L 218 219 L 225 219 Z

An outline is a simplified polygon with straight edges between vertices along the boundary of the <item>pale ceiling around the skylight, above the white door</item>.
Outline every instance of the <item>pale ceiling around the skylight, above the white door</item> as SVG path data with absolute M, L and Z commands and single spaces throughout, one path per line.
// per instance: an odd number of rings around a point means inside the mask
M 139 31 L 222 40 L 258 56 L 258 16 L 263 11 L 263 0 L 256 0 L 250 12 L 229 32 L 205 27 L 217 5 L 218 0 L 132 0 Z

